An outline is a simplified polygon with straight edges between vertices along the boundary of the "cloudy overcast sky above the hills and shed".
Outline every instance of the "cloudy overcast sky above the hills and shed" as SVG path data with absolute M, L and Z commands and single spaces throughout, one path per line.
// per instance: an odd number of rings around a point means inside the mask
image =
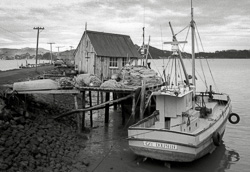
M 171 50 L 169 22 L 190 52 L 191 0 L 1 0 L 0 48 L 36 47 L 53 51 L 76 48 L 85 30 L 129 35 L 134 44 Z M 198 52 L 250 50 L 249 0 L 193 0 Z M 186 29 L 185 29 L 186 28 Z M 183 30 L 184 29 L 184 30 Z M 189 35 L 189 36 L 187 36 Z M 199 39 L 200 38 L 200 39 Z M 201 41 L 199 41 L 201 40 Z

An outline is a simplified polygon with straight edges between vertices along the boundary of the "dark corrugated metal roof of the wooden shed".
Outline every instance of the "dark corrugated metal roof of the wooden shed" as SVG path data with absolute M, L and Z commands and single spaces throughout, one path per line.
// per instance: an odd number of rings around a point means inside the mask
M 98 56 L 140 57 L 130 36 L 86 31 Z

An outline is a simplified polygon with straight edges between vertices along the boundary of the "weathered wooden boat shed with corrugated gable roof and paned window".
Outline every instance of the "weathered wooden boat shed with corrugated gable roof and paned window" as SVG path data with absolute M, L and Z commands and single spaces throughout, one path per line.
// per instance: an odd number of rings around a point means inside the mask
M 90 73 L 101 80 L 128 62 L 137 65 L 140 54 L 130 36 L 85 30 L 74 52 L 75 69 L 79 73 Z

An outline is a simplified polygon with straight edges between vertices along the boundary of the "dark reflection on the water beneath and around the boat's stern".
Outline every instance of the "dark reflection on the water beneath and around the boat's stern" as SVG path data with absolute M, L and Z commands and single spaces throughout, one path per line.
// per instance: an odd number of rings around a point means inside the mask
M 129 149 L 127 129 L 121 125 L 121 114 L 119 112 L 110 114 L 109 125 L 104 125 L 104 120 L 99 123 L 95 121 L 96 127 L 91 131 L 85 154 L 92 159 L 88 171 L 131 171 L 148 172 L 224 172 L 240 160 L 240 155 L 222 143 L 212 153 L 191 163 L 171 163 L 171 168 L 165 167 L 163 161 L 142 158 L 133 154 Z M 103 117 L 102 117 L 103 119 Z M 92 158 L 91 158 L 92 157 Z M 141 159 L 141 160 L 140 160 Z M 138 163 L 139 162 L 139 163 Z

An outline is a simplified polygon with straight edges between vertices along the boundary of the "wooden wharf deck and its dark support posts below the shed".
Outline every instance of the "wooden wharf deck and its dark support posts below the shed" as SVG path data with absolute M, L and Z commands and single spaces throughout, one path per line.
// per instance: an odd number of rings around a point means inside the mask
M 114 106 L 114 109 L 117 108 L 117 104 L 121 103 L 124 100 L 132 98 L 132 107 L 131 107 L 131 119 L 135 122 L 136 116 L 136 106 L 138 101 L 140 100 L 140 119 L 142 119 L 143 113 L 145 112 L 145 92 L 153 91 L 159 89 L 162 85 L 153 85 L 153 86 L 133 86 L 128 88 L 100 88 L 100 87 L 74 87 L 72 89 L 55 89 L 55 90 L 27 90 L 27 91 L 15 91 L 18 94 L 50 94 L 50 95 L 58 95 L 58 94 L 69 94 L 74 96 L 74 104 L 75 109 L 64 114 L 60 114 L 54 119 L 61 118 L 64 116 L 68 116 L 71 114 L 77 114 L 77 127 L 78 132 L 85 130 L 85 112 L 90 111 L 90 126 L 93 126 L 93 110 L 103 109 L 105 108 L 105 117 L 104 122 L 109 123 L 109 107 Z M 88 95 L 86 93 L 89 93 Z M 93 105 L 92 102 L 92 92 L 97 92 L 97 104 Z M 111 100 L 110 94 L 112 93 L 113 98 Z M 139 94 L 138 94 L 139 93 Z M 142 94 L 141 94 L 142 93 Z M 103 102 L 103 94 L 105 94 L 105 102 Z M 86 107 L 86 95 L 89 97 L 89 107 Z M 101 103 L 100 102 L 101 95 Z M 120 96 L 118 96 L 120 95 Z M 77 97 L 81 96 L 81 107 L 79 107 Z M 151 97 L 150 97 L 151 98 Z M 125 112 L 123 109 L 123 103 L 121 103 L 122 107 L 122 124 L 125 124 Z

